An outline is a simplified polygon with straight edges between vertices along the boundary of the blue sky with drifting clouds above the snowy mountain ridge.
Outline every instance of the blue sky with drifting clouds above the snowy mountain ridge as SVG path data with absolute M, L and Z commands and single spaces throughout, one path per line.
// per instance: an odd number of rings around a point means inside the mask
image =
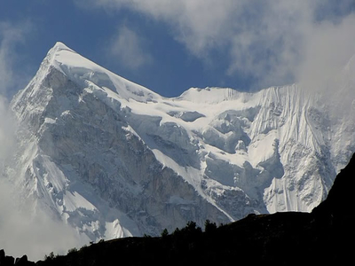
M 319 86 L 355 54 L 355 1 L 0 0 L 2 94 L 57 41 L 166 97 Z

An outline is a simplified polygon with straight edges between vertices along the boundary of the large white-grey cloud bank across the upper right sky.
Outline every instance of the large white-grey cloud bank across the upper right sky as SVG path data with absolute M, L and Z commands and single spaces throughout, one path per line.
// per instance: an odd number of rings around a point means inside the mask
M 325 62 L 313 58 L 309 45 L 315 47 L 319 56 L 327 50 L 328 59 L 329 55 L 336 58 L 330 63 L 340 59 L 339 51 L 321 39 L 335 44 L 335 39 L 331 39 L 335 35 L 343 36 L 343 30 L 347 30 L 347 35 L 354 35 L 353 26 L 348 25 L 346 29 L 342 26 L 346 23 L 344 17 L 354 17 L 353 5 L 350 0 L 336 3 L 331 0 L 92 2 L 92 6 L 110 11 L 130 9 L 170 25 L 173 37 L 198 58 L 226 52 L 229 54 L 226 73 L 250 76 L 259 87 L 296 82 L 297 78 L 304 78 L 304 69 L 321 69 Z M 351 42 L 351 38 L 343 42 Z M 354 53 L 350 46 L 348 43 L 342 51 L 348 59 Z

